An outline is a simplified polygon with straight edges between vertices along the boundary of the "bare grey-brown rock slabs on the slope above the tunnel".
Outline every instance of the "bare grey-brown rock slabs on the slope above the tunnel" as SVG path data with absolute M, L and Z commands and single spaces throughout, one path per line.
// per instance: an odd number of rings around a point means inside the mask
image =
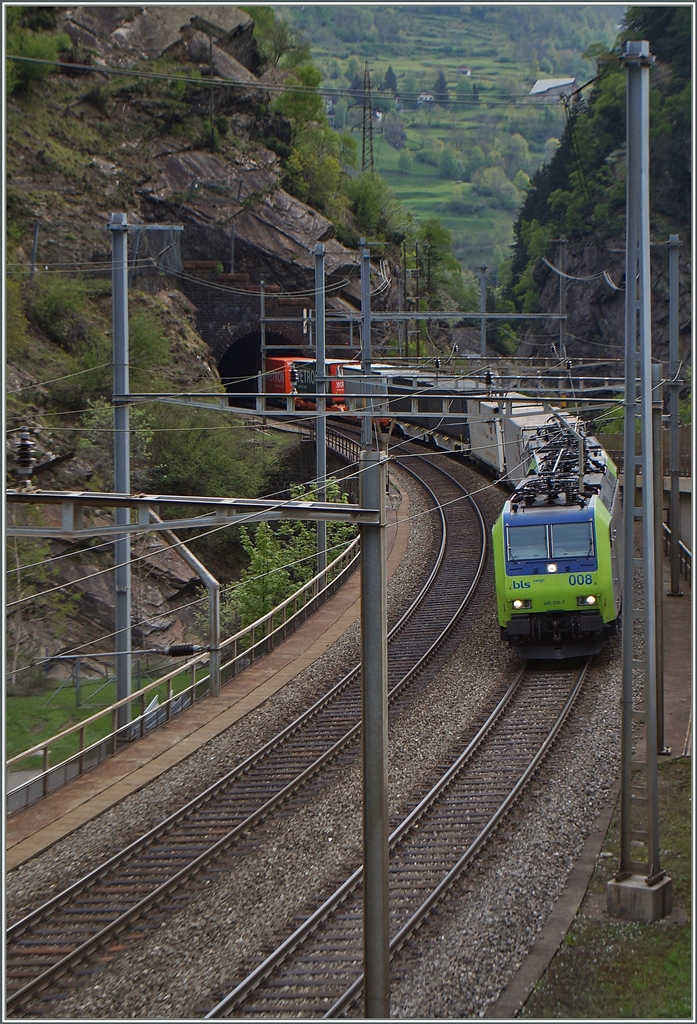
M 218 282 L 217 290 L 216 283 L 206 276 L 199 275 L 199 282 L 186 280 L 186 275 L 179 280 L 179 287 L 197 305 L 198 328 L 216 360 L 239 337 L 259 335 L 260 281 L 269 292 L 300 293 L 305 305 L 312 305 L 318 242 L 325 249 L 330 308 L 343 309 L 348 302 L 348 308 L 355 309 L 357 254 L 336 241 L 330 220 L 280 187 L 277 157 L 260 142 L 268 137 L 287 145 L 291 129 L 285 118 L 268 114 L 268 83 L 255 74 L 261 60 L 254 23 L 248 14 L 236 7 L 206 4 L 85 6 L 70 8 L 62 28 L 74 43 L 98 54 L 97 63 L 123 67 L 170 53 L 198 65 L 202 79 L 192 79 L 186 87 L 191 112 L 208 117 L 213 102 L 216 116 L 227 119 L 230 137 L 255 142 L 254 147 L 237 147 L 235 157 L 229 159 L 211 152 L 205 140 L 192 144 L 167 132 L 159 134 L 148 146 L 151 173 L 136 189 L 139 213 L 145 221 L 184 225 L 177 240 L 179 263 L 177 266 L 174 261 L 175 270 L 182 269 L 182 260 L 205 261 L 248 275 L 249 287 L 228 284 L 221 288 L 223 283 Z M 212 98 L 209 83 L 218 81 L 220 87 Z M 230 88 L 230 83 L 238 87 Z M 153 109 L 150 113 L 157 118 Z M 106 177 L 119 173 L 113 165 L 102 167 L 93 161 L 93 166 Z M 142 257 L 144 237 L 138 245 Z M 165 268 L 171 271 L 172 262 Z M 340 290 L 343 294 L 339 298 Z M 269 301 L 273 305 L 272 297 Z M 284 313 L 287 318 L 300 316 L 301 310 L 284 310 L 277 302 L 267 309 L 267 315 L 282 317 Z M 344 333 L 348 342 L 348 327 Z M 286 334 L 289 344 L 298 346 L 307 340 L 302 326 L 289 328 Z M 332 339 L 328 341 L 332 343 Z M 246 374 L 248 370 L 246 364 Z

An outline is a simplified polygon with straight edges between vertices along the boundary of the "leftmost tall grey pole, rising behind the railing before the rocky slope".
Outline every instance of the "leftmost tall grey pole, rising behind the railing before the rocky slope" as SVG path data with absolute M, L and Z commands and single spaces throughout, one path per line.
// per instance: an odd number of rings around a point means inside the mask
M 128 222 L 125 213 L 113 213 L 112 231 L 112 316 L 114 334 L 114 489 L 130 495 L 130 432 L 128 400 Z M 117 398 L 117 395 L 120 397 Z M 130 521 L 130 509 L 117 508 L 118 526 Z M 117 700 L 131 692 L 131 539 L 119 535 L 114 545 L 116 562 Z M 130 705 L 118 711 L 119 728 L 131 720 Z M 127 739 L 124 734 L 123 739 Z

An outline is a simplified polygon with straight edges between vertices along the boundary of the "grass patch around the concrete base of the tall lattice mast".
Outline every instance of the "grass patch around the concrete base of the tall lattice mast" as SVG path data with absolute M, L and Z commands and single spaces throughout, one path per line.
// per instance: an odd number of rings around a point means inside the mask
M 618 863 L 615 810 L 585 899 L 520 1017 L 691 1017 L 691 760 L 661 764 L 658 779 L 660 858 L 672 879 L 672 913 L 644 925 L 599 912 Z

